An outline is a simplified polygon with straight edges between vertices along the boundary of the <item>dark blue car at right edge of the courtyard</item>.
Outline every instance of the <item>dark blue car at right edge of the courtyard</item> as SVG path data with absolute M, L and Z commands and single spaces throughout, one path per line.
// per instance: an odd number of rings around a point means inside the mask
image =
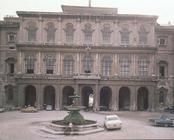
M 164 127 L 174 126 L 174 118 L 169 117 L 167 115 L 161 115 L 160 118 L 149 119 L 149 121 L 154 126 L 164 126 Z

